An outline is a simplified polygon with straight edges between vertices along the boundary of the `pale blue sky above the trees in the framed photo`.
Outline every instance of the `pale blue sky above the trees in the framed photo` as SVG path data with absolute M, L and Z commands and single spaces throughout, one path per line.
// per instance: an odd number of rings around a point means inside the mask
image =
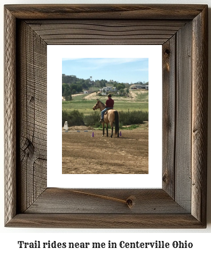
M 62 58 L 62 74 L 92 80 L 149 81 L 149 58 Z

